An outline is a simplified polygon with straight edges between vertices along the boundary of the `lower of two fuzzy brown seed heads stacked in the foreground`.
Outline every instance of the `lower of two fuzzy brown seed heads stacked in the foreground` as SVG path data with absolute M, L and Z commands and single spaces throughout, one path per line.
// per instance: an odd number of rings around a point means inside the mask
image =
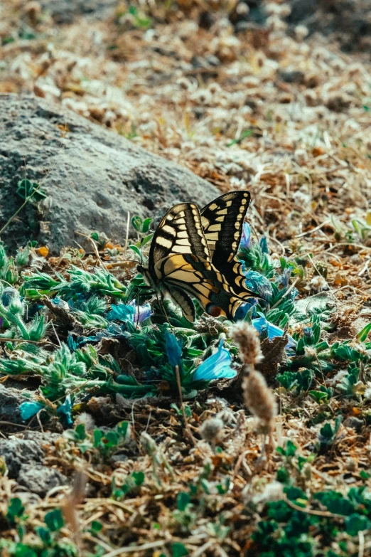
M 274 418 L 276 417 L 276 401 L 271 389 L 259 371 L 250 371 L 242 383 L 244 391 L 244 403 L 250 412 L 262 421 L 267 433 L 274 430 Z

